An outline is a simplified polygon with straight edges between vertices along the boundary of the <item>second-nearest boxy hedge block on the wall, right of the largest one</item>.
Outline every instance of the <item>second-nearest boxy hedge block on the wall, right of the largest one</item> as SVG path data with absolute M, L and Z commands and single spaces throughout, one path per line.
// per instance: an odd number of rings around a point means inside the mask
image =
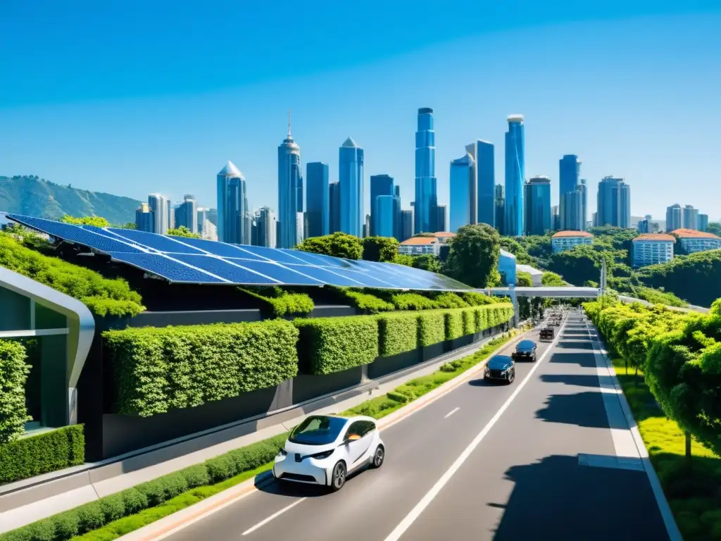
M 296 320 L 298 351 L 307 374 L 332 374 L 370 364 L 378 356 L 378 320 L 373 316 Z

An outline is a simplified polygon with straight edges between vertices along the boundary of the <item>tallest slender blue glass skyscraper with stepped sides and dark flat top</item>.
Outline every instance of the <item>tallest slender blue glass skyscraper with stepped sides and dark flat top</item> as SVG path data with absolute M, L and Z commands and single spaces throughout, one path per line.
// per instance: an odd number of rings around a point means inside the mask
M 438 211 L 435 180 L 435 131 L 433 109 L 418 110 L 418 131 L 415 132 L 415 232 L 435 233 Z

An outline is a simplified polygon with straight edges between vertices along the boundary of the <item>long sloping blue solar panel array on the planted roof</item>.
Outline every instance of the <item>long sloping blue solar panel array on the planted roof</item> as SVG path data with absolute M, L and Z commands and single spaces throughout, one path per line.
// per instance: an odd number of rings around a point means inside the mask
M 71 225 L 8 214 L 9 219 L 131 265 L 171 283 L 244 286 L 349 286 L 466 291 L 441 274 L 394 263 L 332 258 L 300 250 L 235 245 L 135 229 Z

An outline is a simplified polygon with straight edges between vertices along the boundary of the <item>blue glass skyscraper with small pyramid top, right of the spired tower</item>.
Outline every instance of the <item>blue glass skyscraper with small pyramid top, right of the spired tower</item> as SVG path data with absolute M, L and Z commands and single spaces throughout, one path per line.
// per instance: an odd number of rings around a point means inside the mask
M 363 149 L 347 138 L 340 147 L 340 231 L 361 237 L 365 224 L 363 208 Z

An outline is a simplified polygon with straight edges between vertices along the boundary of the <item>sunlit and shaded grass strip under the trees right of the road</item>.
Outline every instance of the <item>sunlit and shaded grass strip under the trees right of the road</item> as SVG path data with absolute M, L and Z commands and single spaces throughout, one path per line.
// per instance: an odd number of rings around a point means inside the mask
M 697 441 L 686 459 L 686 437 L 666 418 L 639 371 L 613 359 L 651 463 L 685 541 L 721 540 L 721 458 Z

